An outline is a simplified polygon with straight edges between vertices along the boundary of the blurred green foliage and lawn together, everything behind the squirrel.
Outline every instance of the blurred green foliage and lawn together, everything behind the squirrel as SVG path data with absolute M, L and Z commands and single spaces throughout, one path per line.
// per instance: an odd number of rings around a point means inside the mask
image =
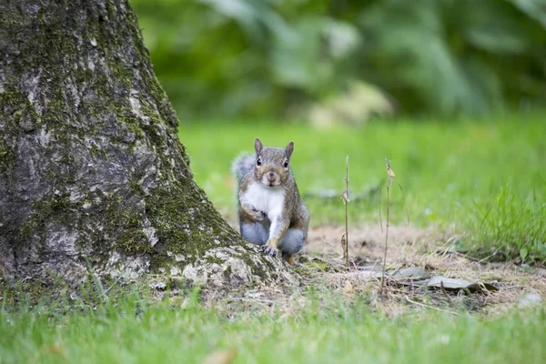
M 197 184 L 231 222 L 233 158 L 294 140 L 313 226 L 343 223 L 348 155 L 349 221 L 379 224 L 388 157 L 394 223 L 407 208 L 483 257 L 546 262 L 546 0 L 131 2 Z

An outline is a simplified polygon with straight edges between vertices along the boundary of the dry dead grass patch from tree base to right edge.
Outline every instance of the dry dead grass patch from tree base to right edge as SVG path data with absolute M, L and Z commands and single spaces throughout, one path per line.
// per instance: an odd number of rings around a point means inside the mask
M 457 315 L 471 311 L 486 316 L 507 312 L 526 293 L 546 299 L 546 269 L 525 268 L 513 263 L 490 263 L 466 257 L 451 249 L 455 234 L 442 233 L 434 227 L 422 229 L 392 226 L 389 230 L 387 269 L 418 267 L 430 275 L 463 278 L 472 282 L 490 283 L 498 291 L 453 293 L 439 289 L 408 287 L 388 278 L 379 295 L 384 234 L 379 226 L 353 226 L 350 230 L 349 256 L 351 268 L 344 267 L 339 237 L 344 226 L 313 227 L 300 260 L 302 289 L 259 288 L 222 298 L 224 308 L 243 306 L 244 312 L 265 309 L 290 315 L 308 302 L 306 289 L 319 296 L 338 296 L 345 300 L 365 298 L 374 310 L 388 316 L 424 313 L 428 309 Z M 216 299 L 213 299 L 213 301 Z M 240 309 L 239 309 L 240 311 Z

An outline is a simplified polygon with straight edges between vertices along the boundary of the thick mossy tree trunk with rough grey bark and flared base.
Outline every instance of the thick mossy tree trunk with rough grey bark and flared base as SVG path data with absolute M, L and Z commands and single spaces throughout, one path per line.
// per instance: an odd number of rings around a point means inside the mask
M 0 57 L 0 280 L 282 271 L 195 184 L 126 0 L 3 0 Z

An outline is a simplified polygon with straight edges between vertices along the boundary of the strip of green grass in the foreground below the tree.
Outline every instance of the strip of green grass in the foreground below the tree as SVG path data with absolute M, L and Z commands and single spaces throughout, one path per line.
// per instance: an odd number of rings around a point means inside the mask
M 128 296 L 71 315 L 0 310 L 2 363 L 198 363 L 235 350 L 235 363 L 541 363 L 546 311 L 501 319 L 435 311 L 387 318 L 369 302 L 315 301 L 292 315 L 148 304 Z M 235 319 L 231 318 L 235 315 Z

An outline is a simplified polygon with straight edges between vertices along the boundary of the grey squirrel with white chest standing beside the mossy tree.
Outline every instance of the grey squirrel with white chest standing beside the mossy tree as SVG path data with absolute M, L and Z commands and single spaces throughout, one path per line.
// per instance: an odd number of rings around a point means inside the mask
M 289 265 L 304 247 L 309 224 L 308 208 L 299 197 L 290 168 L 294 142 L 287 147 L 263 147 L 254 142 L 256 155 L 233 162 L 238 179 L 239 228 L 243 238 L 276 257 L 278 251 Z

